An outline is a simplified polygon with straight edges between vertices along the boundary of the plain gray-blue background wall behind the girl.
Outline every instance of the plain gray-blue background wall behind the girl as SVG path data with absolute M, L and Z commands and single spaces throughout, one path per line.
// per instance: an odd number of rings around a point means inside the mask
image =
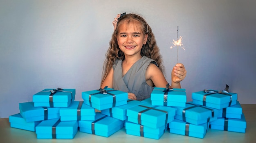
M 183 36 L 179 62 L 187 101 L 204 89 L 238 93 L 256 104 L 255 0 L 0 0 L 0 117 L 19 113 L 45 88 L 99 88 L 117 13 L 143 15 L 153 29 L 167 80 L 177 63 L 173 39 Z

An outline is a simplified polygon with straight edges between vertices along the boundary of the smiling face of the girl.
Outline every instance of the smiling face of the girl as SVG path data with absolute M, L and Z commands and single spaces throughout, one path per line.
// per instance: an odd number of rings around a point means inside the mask
M 117 42 L 124 55 L 141 56 L 140 51 L 147 42 L 148 35 L 144 35 L 141 28 L 135 24 L 122 24 L 117 33 Z

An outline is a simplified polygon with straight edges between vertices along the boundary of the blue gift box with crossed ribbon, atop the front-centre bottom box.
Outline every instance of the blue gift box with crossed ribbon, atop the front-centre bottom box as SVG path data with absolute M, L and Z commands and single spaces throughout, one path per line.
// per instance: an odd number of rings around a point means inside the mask
M 128 121 L 150 128 L 160 128 L 173 121 L 175 108 L 153 106 L 145 102 L 143 105 L 127 109 Z

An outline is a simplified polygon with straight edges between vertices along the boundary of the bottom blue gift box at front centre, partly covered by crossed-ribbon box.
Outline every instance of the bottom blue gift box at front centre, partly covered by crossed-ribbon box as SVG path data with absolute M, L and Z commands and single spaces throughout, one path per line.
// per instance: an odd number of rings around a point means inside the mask
M 125 128 L 126 134 L 146 137 L 150 139 L 159 139 L 164 134 L 166 126 L 162 126 L 160 128 L 150 128 L 147 126 L 126 121 Z

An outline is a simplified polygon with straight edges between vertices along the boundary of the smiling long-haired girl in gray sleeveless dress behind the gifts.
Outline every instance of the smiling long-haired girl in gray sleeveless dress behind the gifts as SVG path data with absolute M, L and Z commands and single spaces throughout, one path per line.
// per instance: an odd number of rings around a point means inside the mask
M 150 98 L 154 87 L 166 87 L 162 57 L 147 22 L 137 14 L 118 14 L 103 65 L 101 88 L 128 92 L 132 100 Z M 181 88 L 186 76 L 183 64 L 173 67 L 171 87 Z

